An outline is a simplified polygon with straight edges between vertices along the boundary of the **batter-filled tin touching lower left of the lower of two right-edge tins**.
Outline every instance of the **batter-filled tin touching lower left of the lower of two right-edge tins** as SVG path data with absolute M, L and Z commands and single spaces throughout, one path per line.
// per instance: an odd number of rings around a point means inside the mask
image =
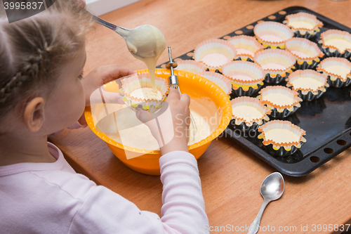
M 328 76 L 314 70 L 296 70 L 289 75 L 286 86 L 297 91 L 303 100 L 311 101 L 328 89 Z

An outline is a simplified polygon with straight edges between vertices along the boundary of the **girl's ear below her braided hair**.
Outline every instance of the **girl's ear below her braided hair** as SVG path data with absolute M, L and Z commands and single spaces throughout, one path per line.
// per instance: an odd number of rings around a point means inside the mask
M 33 98 L 27 103 L 23 120 L 29 131 L 39 131 L 44 124 L 44 98 Z

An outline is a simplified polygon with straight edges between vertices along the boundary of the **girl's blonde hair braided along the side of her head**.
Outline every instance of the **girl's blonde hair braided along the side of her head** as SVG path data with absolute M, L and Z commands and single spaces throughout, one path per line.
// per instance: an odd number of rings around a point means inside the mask
M 78 1 L 56 0 L 45 11 L 11 23 L 0 9 L 0 119 L 50 93 L 60 67 L 84 48 L 92 22 Z

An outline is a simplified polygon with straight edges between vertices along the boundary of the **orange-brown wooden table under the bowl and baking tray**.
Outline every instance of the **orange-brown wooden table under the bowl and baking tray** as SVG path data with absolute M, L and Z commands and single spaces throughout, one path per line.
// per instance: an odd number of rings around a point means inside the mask
M 102 18 L 127 28 L 145 24 L 158 27 L 168 46 L 172 46 L 173 57 L 177 57 L 205 39 L 222 37 L 288 6 L 305 6 L 351 27 L 351 1 L 330 0 L 143 0 Z M 124 39 L 100 25 L 88 35 L 86 52 L 86 74 L 98 65 L 146 68 L 131 56 Z M 164 53 L 159 64 L 166 60 Z M 161 214 L 159 176 L 139 174 L 124 166 L 90 129 L 65 130 L 51 141 L 78 172 L 126 197 L 140 209 Z M 284 195 L 269 204 L 263 215 L 261 226 L 270 226 L 271 230 L 264 233 L 276 233 L 279 227 L 296 227 L 280 233 L 331 233 L 313 232 L 312 225 L 347 222 L 351 218 L 350 153 L 351 149 L 345 150 L 307 176 L 284 176 Z M 263 202 L 260 184 L 276 169 L 227 138 L 213 141 L 198 162 L 210 226 L 215 230 L 229 225 L 234 229 L 232 233 L 247 233 L 235 231 L 235 227 L 249 226 L 256 217 Z M 302 226 L 307 226 L 307 231 L 302 231 Z

